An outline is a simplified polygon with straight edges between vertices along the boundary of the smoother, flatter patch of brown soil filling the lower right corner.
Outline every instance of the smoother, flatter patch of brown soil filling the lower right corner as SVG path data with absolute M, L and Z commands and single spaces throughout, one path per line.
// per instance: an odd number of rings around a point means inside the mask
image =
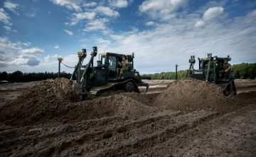
M 218 115 L 136 156 L 255 156 L 256 104 Z

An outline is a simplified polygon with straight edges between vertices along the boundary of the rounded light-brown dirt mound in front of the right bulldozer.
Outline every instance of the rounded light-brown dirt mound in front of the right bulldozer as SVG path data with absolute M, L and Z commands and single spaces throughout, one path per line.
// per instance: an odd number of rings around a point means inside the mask
M 193 111 L 195 109 L 222 109 L 228 99 L 220 87 L 201 80 L 179 80 L 154 99 L 154 106 L 164 109 Z

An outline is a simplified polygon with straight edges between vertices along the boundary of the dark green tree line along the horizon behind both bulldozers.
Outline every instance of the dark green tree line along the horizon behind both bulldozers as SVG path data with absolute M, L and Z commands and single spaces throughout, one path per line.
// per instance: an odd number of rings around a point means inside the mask
M 232 70 L 235 72 L 235 77 L 240 79 L 255 79 L 256 77 L 256 63 L 241 63 L 232 65 Z M 178 71 L 178 79 L 186 78 L 187 70 Z M 16 71 L 12 73 L 0 72 L 0 80 L 7 80 L 9 82 L 31 82 L 47 79 L 55 79 L 58 77 L 58 72 L 21 72 Z M 60 72 L 60 77 L 70 78 L 71 74 L 67 72 Z M 174 80 L 176 79 L 175 72 L 161 72 L 155 74 L 145 74 L 141 76 L 142 79 L 147 80 Z

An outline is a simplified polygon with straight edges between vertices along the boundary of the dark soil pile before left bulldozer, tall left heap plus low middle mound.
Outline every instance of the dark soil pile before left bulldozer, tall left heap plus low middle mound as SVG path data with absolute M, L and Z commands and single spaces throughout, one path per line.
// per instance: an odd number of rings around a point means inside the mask
M 73 81 L 62 78 L 38 82 L 18 99 L 1 107 L 0 121 L 13 125 L 33 125 L 111 116 L 136 119 L 154 111 L 156 107 L 148 107 L 122 94 L 75 102 Z

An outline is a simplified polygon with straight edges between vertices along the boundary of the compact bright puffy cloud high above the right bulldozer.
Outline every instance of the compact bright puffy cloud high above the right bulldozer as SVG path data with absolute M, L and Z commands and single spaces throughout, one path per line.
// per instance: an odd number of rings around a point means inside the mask
M 203 19 L 208 21 L 216 18 L 220 18 L 224 13 L 224 9 L 221 6 L 209 8 L 203 13 Z

